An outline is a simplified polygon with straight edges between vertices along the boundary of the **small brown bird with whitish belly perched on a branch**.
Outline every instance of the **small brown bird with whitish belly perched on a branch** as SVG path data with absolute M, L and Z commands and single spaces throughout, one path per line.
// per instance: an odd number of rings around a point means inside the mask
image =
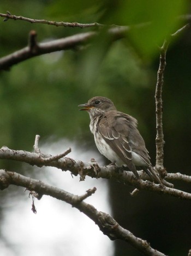
M 153 181 L 162 184 L 134 117 L 117 111 L 114 103 L 103 96 L 93 97 L 79 107 L 89 114 L 89 128 L 102 155 L 118 167 L 127 166 L 136 179 L 140 179 L 136 167 L 141 167 Z

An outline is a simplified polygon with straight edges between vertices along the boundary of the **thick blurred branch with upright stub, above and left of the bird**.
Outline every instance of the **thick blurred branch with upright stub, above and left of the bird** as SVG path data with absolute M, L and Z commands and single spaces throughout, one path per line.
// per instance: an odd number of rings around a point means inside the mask
M 109 29 L 107 33 L 111 41 L 116 41 L 117 39 L 123 38 L 127 31 L 128 27 L 114 27 L 112 29 Z M 74 36 L 69 36 L 38 44 L 35 41 L 35 37 L 37 36 L 36 32 L 31 31 L 29 33 L 28 46 L 1 58 L 0 70 L 8 70 L 11 66 L 27 59 L 31 59 L 34 56 L 39 56 L 46 53 L 53 53 L 60 50 L 76 49 L 76 47 L 87 44 L 90 39 L 98 35 L 98 32 L 79 33 Z

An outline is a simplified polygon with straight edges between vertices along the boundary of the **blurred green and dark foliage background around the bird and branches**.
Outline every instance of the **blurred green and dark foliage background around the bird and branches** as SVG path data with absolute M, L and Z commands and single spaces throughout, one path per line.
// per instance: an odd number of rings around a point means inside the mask
M 106 96 L 117 109 L 133 115 L 150 151 L 156 156 L 154 92 L 159 49 L 164 38 L 182 26 L 177 16 L 189 13 L 188 1 L 9 1 L 0 12 L 34 19 L 138 25 L 127 37 L 109 42 L 104 33 L 85 50 L 38 56 L 0 73 L 0 145 L 32 151 L 35 134 L 41 140 L 68 138 L 95 148 L 89 117 L 77 105 L 93 96 Z M 38 42 L 94 29 L 77 29 L 24 21 L 0 21 L 1 56 L 27 45 L 30 30 Z M 190 174 L 190 29 L 171 41 L 163 88 L 164 165 L 168 172 Z M 93 157 L 93 156 L 92 156 Z M 80 160 L 80 156 L 79 156 Z M 108 162 L 106 162 L 108 163 Z M 21 164 L 1 161 L 1 168 L 20 170 Z M 22 170 L 25 172 L 25 170 Z M 190 248 L 190 202 L 141 191 L 109 181 L 114 218 L 134 235 L 168 255 L 187 255 Z M 191 192 L 190 186 L 176 183 Z M 9 190 L 3 192 L 5 200 Z M 1 203 L 1 213 L 3 203 Z M 0 215 L 1 216 L 1 215 Z M 140 255 L 115 241 L 116 255 Z

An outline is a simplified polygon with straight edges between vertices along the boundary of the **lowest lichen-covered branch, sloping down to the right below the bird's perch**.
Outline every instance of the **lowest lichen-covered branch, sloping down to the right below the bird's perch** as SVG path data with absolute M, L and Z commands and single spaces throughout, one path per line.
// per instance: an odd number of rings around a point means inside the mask
M 0 189 L 3 190 L 10 184 L 26 187 L 27 190 L 35 191 L 38 195 L 51 196 L 71 204 L 71 206 L 79 209 L 80 212 L 92 219 L 99 226 L 103 234 L 108 236 L 111 240 L 123 240 L 131 244 L 144 255 L 165 256 L 165 254 L 153 249 L 147 241 L 134 236 L 132 232 L 124 229 L 109 214 L 99 212 L 91 204 L 83 202 L 83 199 L 91 196 L 96 191 L 95 187 L 88 190 L 85 195 L 76 196 L 62 189 L 58 189 L 57 187 L 45 184 L 42 181 L 31 179 L 15 172 L 0 170 Z M 33 193 L 33 195 L 35 195 L 35 193 Z

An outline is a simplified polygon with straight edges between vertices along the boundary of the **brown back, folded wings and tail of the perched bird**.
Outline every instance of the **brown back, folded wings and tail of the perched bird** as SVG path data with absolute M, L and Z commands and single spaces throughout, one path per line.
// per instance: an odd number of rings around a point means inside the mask
M 137 129 L 135 118 L 122 112 L 110 111 L 100 118 L 97 128 L 106 143 L 127 164 L 136 177 L 139 177 L 139 175 L 132 162 L 132 151 L 144 160 L 145 166 L 143 168 L 145 172 L 152 179 L 161 183 L 156 170 L 152 167 L 145 141 Z

